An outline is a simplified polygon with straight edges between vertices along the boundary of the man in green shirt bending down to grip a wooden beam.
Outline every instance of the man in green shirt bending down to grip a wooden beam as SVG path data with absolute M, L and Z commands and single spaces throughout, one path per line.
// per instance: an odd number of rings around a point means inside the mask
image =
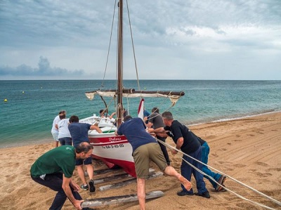
M 81 208 L 79 185 L 72 181 L 75 159 L 86 159 L 91 156 L 93 146 L 87 142 L 77 147 L 70 145 L 55 147 L 39 157 L 30 169 L 31 178 L 52 190 L 57 191 L 50 209 L 62 209 L 66 198 L 70 199 L 76 209 Z

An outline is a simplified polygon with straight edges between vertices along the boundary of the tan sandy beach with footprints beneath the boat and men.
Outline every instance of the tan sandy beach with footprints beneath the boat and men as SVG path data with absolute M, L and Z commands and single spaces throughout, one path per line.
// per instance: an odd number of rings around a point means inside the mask
M 280 205 L 232 179 L 281 202 L 281 112 L 189 128 L 197 136 L 207 140 L 211 148 L 209 166 L 229 176 L 225 182 L 229 190 L 270 208 L 281 209 Z M 167 139 L 166 142 L 174 146 L 171 139 Z M 32 181 L 30 166 L 37 157 L 51 148 L 53 148 L 53 141 L 50 138 L 50 143 L 46 144 L 0 149 L 2 193 L 0 209 L 48 209 L 55 192 Z M 181 157 L 178 155 L 170 155 L 170 157 L 172 166 L 179 171 Z M 106 168 L 100 161 L 93 161 L 93 165 L 96 170 Z M 159 171 L 155 165 L 151 164 L 151 167 Z M 95 176 L 95 178 L 102 176 Z M 77 171 L 74 171 L 74 180 L 81 184 Z M 266 209 L 241 199 L 229 191 L 213 192 L 207 179 L 205 183 L 211 195 L 210 199 L 195 195 L 178 197 L 176 192 L 181 188 L 174 178 L 159 176 L 150 179 L 146 181 L 146 192 L 162 190 L 164 196 L 148 200 L 146 209 Z M 194 191 L 197 192 L 194 178 L 192 184 Z M 101 185 L 105 184 L 96 187 Z M 84 199 L 134 194 L 136 183 L 103 192 L 96 190 L 93 195 L 89 195 L 87 191 L 80 192 Z M 63 209 L 74 209 L 74 207 L 67 200 Z M 129 202 L 99 206 L 95 209 L 136 210 L 139 208 L 138 202 Z

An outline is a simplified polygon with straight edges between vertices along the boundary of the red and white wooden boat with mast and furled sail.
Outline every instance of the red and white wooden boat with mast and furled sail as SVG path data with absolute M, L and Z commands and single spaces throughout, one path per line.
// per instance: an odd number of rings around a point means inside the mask
M 123 0 L 119 0 L 118 4 L 118 53 L 117 53 L 117 88 L 111 90 L 96 90 L 86 92 L 86 97 L 93 100 L 95 95 L 100 96 L 105 103 L 103 97 L 117 98 L 116 122 L 112 122 L 108 118 L 100 118 L 96 116 L 81 119 L 80 122 L 89 124 L 98 124 L 103 133 L 96 131 L 89 131 L 89 140 L 93 145 L 93 157 L 101 159 L 109 167 L 120 166 L 126 173 L 136 177 L 135 166 L 132 157 L 132 148 L 125 136 L 115 136 L 115 131 L 120 124 L 122 124 L 122 110 L 124 97 L 141 98 L 141 105 L 139 110 L 143 110 L 143 98 L 145 97 L 165 97 L 170 98 L 174 105 L 176 100 L 183 96 L 184 92 L 172 91 L 136 91 L 133 88 L 125 89 L 123 86 Z M 107 107 L 105 103 L 105 107 Z M 141 117 L 139 114 L 138 117 Z

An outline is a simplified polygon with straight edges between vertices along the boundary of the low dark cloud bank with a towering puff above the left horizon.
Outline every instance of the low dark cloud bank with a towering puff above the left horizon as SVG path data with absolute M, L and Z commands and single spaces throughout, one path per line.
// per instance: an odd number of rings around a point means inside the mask
M 84 70 L 66 70 L 60 67 L 51 67 L 48 58 L 40 56 L 38 68 L 32 68 L 25 64 L 18 67 L 0 66 L 0 75 L 2 76 L 83 76 Z

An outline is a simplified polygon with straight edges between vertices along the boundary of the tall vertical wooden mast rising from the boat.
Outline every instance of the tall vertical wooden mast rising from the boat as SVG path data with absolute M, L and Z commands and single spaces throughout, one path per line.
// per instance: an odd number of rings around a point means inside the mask
M 117 77 L 117 127 L 119 127 L 123 117 L 123 0 L 119 0 Z

